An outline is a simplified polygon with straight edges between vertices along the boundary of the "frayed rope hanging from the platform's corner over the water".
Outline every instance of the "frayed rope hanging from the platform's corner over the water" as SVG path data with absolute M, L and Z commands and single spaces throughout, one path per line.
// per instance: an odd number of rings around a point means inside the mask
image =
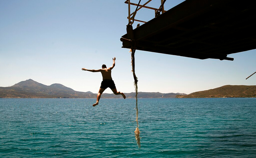
M 136 141 L 137 141 L 137 145 L 140 147 L 140 130 L 139 130 L 139 123 L 138 123 L 138 78 L 136 77 L 136 74 L 135 74 L 135 58 L 134 58 L 134 54 L 135 54 L 135 50 L 134 48 L 131 49 L 131 52 L 132 52 L 132 73 L 133 73 L 133 78 L 134 78 L 134 88 L 135 88 L 135 98 L 136 98 L 136 122 L 137 122 L 137 128 L 136 130 L 134 131 L 135 133 L 135 138 L 136 138 Z

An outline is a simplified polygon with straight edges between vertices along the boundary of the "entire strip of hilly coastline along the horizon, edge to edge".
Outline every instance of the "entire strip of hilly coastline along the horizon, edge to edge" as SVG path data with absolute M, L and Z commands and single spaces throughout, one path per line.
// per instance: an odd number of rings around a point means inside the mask
M 124 93 L 134 98 L 135 92 Z M 43 85 L 32 79 L 21 81 L 10 87 L 0 87 L 0 98 L 96 98 L 97 94 L 78 92 L 55 83 Z M 101 98 L 122 98 L 122 96 L 103 93 Z M 138 92 L 138 98 L 256 98 L 256 85 L 224 85 L 219 88 L 185 93 Z

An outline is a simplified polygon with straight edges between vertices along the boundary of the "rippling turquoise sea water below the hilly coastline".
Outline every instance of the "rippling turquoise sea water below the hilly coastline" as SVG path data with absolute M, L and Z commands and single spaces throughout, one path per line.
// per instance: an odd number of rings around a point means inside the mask
M 256 157 L 256 98 L 0 99 L 0 157 Z

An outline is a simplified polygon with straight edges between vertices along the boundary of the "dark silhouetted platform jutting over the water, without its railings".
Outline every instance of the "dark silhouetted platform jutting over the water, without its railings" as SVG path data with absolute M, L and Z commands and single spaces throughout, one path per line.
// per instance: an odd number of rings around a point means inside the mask
M 233 60 L 227 55 L 256 49 L 255 29 L 256 1 L 186 0 L 135 28 L 133 35 L 128 32 L 121 41 L 122 48 L 135 43 L 142 51 Z

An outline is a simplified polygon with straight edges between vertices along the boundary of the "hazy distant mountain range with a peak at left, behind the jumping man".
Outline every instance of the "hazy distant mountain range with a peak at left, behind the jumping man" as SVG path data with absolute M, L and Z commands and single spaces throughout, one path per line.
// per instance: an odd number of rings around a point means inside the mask
M 135 93 L 124 93 L 126 98 L 134 98 Z M 177 94 L 138 92 L 138 98 L 175 98 Z M 185 94 L 186 95 L 186 94 Z M 0 98 L 96 98 L 90 91 L 78 92 L 62 84 L 43 85 L 32 79 L 21 81 L 11 87 L 0 87 Z M 121 95 L 103 93 L 101 98 L 122 98 Z

